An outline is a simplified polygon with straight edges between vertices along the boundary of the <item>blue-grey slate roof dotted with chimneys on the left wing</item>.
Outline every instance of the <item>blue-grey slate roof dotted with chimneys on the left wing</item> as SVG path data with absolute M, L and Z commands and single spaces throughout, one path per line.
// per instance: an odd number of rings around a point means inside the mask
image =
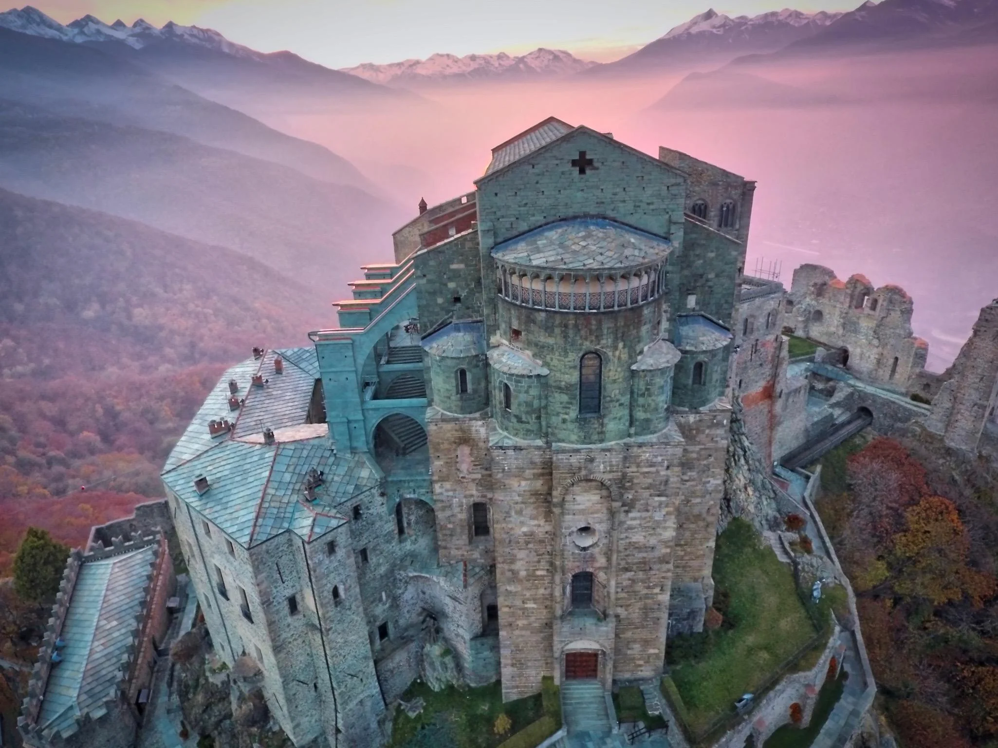
M 278 355 L 283 374 L 273 368 Z M 253 374 L 265 383 L 253 385 Z M 168 458 L 163 482 L 248 548 L 287 530 L 310 540 L 346 521 L 337 505 L 376 487 L 380 471 L 366 455 L 337 453 L 327 424 L 305 422 L 318 374 L 314 349 L 268 351 L 230 369 Z M 245 398 L 239 412 L 229 409 L 232 378 Z M 235 419 L 235 427 L 212 437 L 208 422 L 220 417 Z M 265 442 L 267 427 L 272 444 Z M 312 468 L 323 472 L 323 479 L 307 499 Z M 204 493 L 194 484 L 200 475 L 209 482 Z

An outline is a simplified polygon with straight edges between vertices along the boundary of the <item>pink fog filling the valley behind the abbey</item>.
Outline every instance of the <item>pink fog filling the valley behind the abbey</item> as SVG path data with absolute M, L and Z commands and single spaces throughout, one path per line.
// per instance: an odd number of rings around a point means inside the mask
M 242 108 L 349 159 L 413 213 L 473 189 L 493 146 L 549 115 L 688 152 L 757 180 L 749 272 L 779 262 L 789 286 L 819 263 L 904 287 L 941 371 L 998 296 L 998 47 L 760 59 L 692 78 L 442 86 L 362 112 Z M 370 259 L 357 249 L 357 265 Z

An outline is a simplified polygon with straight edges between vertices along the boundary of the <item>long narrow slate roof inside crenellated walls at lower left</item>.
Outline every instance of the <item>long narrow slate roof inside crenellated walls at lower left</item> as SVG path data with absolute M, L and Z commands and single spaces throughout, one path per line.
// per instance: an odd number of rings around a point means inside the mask
M 62 662 L 52 665 L 38 716 L 42 731 L 75 732 L 78 715 L 103 715 L 117 698 L 123 658 L 140 623 L 156 543 L 84 562 L 73 587 L 60 638 Z

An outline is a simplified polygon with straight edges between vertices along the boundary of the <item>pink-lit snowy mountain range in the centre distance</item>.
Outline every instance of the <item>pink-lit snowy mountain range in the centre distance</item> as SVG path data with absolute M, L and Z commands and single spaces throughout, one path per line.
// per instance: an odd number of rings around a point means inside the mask
M 405 85 L 461 78 L 554 77 L 578 73 L 596 64 L 580 60 L 564 50 L 542 47 L 519 56 L 508 55 L 505 52 L 464 57 L 435 54 L 425 60 L 403 60 L 387 65 L 363 63 L 356 67 L 343 68 L 341 72 L 365 78 L 372 83 Z

